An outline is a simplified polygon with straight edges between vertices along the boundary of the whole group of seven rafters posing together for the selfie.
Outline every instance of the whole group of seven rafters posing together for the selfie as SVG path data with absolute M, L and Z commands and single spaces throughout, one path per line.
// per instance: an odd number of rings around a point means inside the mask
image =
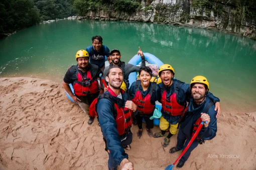
M 109 156 L 108 169 L 116 169 L 118 165 L 121 169 L 134 169 L 124 151 L 131 149 L 133 122 L 138 124 L 137 135 L 141 138 L 144 118 L 149 136 L 165 137 L 164 147 L 169 145 L 171 136 L 179 129 L 177 145 L 169 150 L 174 153 L 188 145 L 197 127 L 204 121 L 203 128 L 177 164 L 177 167 L 182 167 L 198 143 L 202 144 L 216 135 L 220 100 L 209 92 L 206 77 L 195 76 L 187 84 L 174 78 L 175 70 L 170 64 L 159 67 L 158 75 L 162 82 L 152 82 L 152 69 L 146 66 L 140 47 L 138 55 L 142 59 L 141 66 L 125 63 L 120 60 L 118 49 L 109 51 L 107 46 L 102 45 L 101 36 L 93 36 L 91 46 L 77 51 L 77 65 L 67 70 L 63 87 L 89 115 L 89 125 L 94 115 L 97 115 Z M 109 61 L 106 67 L 105 56 Z M 139 79 L 129 88 L 128 77 L 131 72 L 139 72 Z M 106 81 L 107 86 L 102 81 Z M 72 93 L 70 83 L 75 94 Z M 154 122 L 150 117 L 154 115 L 156 101 L 162 104 L 161 132 L 153 134 Z

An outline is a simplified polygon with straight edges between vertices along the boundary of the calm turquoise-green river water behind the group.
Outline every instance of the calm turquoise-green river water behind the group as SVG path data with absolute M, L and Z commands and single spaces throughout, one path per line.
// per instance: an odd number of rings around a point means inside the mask
M 190 83 L 204 75 L 226 110 L 256 111 L 256 41 L 213 30 L 126 21 L 60 20 L 42 23 L 0 39 L 0 77 L 29 76 L 59 83 L 75 53 L 101 35 L 128 62 L 138 46 L 175 69 Z

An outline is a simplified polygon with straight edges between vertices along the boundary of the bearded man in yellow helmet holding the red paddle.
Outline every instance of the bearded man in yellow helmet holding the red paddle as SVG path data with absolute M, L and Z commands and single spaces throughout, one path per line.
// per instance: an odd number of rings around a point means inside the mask
M 209 91 L 208 80 L 204 76 L 195 76 L 191 80 L 190 88 L 192 97 L 190 98 L 188 110 L 180 121 L 177 146 L 172 147 L 169 152 L 174 153 L 184 149 L 190 142 L 201 121 L 204 121 L 204 125 L 188 150 L 181 157 L 177 164 L 178 168 L 184 165 L 191 151 L 198 143 L 202 144 L 205 140 L 212 139 L 216 136 L 217 131 L 217 111 L 214 110 L 214 103 L 207 96 Z

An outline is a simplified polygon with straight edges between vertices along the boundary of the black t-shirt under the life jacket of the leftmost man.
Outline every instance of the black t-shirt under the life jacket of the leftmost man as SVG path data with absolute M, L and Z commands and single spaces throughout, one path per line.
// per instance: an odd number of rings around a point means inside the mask
M 87 70 L 91 71 L 91 76 L 92 78 L 98 78 L 99 74 L 102 73 L 102 71 L 100 70 L 100 68 L 95 65 L 95 64 L 88 64 L 88 67 L 86 69 L 85 72 L 82 72 L 83 76 L 85 76 L 87 74 Z M 76 71 L 77 71 L 77 65 L 73 65 L 70 68 L 68 68 L 63 81 L 65 83 L 71 83 L 73 85 L 74 81 L 77 80 L 77 75 L 76 75 Z M 99 92 L 97 93 L 93 93 L 93 94 L 87 94 L 86 96 L 77 96 L 80 100 L 82 100 L 82 102 L 86 103 L 86 104 L 91 104 L 91 102 L 98 97 Z

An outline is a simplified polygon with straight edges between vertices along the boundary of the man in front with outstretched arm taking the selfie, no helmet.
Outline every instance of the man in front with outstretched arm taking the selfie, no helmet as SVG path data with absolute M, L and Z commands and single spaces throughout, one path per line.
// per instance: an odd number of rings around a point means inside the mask
M 122 90 L 123 72 L 120 67 L 113 65 L 106 73 L 108 89 L 98 97 L 97 115 L 103 139 L 108 152 L 108 169 L 134 169 L 133 163 L 128 160 L 124 149 L 131 149 L 133 140 L 131 131 L 133 112 L 137 105 L 130 100 Z

